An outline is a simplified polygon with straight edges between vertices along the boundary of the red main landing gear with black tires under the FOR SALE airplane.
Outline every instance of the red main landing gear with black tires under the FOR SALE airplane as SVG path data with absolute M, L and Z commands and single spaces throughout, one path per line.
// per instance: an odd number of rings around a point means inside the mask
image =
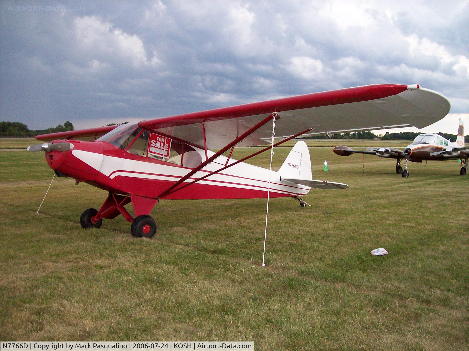
M 132 202 L 136 218 L 133 218 L 125 205 Z M 158 202 L 158 199 L 149 199 L 136 195 L 118 195 L 109 193 L 106 201 L 99 210 L 85 209 L 80 216 L 80 224 L 84 229 L 99 228 L 103 223 L 103 218 L 113 219 L 119 215 L 124 216 L 129 222 L 130 232 L 135 238 L 152 238 L 157 230 L 155 220 L 149 213 Z

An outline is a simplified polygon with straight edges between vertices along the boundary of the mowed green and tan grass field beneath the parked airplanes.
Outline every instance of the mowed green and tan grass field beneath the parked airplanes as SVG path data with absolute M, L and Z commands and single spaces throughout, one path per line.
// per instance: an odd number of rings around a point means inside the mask
M 0 152 L 0 339 L 467 350 L 469 176 L 447 161 L 403 179 L 393 160 L 310 152 L 313 179 L 350 188 L 312 190 L 304 209 L 271 199 L 265 268 L 265 199 L 161 201 L 153 239 L 122 217 L 83 230 L 104 191 L 56 178 L 36 214 L 53 176 L 44 154 Z M 249 162 L 268 167 L 269 152 Z

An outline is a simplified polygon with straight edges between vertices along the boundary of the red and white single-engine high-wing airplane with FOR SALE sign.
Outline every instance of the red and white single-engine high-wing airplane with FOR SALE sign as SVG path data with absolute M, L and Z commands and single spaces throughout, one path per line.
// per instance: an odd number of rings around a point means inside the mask
M 161 199 L 263 198 L 270 189 L 271 197 L 292 197 L 304 207 L 300 196 L 311 187 L 348 187 L 311 179 L 310 154 L 302 141 L 270 178 L 268 169 L 243 162 L 271 149 L 271 142 L 277 146 L 300 135 L 421 128 L 445 117 L 449 109 L 446 97 L 418 85 L 369 85 L 118 127 L 43 134 L 36 138 L 45 143 L 28 149 L 44 150 L 58 176 L 109 193 L 99 210 L 83 212 L 83 228 L 98 228 L 103 218 L 121 214 L 132 223 L 134 237 L 151 238 L 157 226 L 149 215 Z M 278 141 L 272 140 L 273 127 Z M 231 157 L 235 146 L 266 144 L 241 160 Z M 124 207 L 129 202 L 135 218 Z

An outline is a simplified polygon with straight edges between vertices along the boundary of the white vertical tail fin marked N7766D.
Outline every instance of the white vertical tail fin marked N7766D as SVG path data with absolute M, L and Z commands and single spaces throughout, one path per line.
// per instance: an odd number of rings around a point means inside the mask
M 310 150 L 305 142 L 295 144 L 278 173 L 282 178 L 312 179 Z

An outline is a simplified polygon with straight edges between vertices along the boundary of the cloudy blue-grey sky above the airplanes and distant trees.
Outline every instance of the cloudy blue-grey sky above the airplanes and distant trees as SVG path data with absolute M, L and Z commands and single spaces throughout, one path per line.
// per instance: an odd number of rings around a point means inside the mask
M 30 129 L 376 83 L 449 99 L 424 132 L 469 126 L 469 1 L 0 2 L 0 120 Z

